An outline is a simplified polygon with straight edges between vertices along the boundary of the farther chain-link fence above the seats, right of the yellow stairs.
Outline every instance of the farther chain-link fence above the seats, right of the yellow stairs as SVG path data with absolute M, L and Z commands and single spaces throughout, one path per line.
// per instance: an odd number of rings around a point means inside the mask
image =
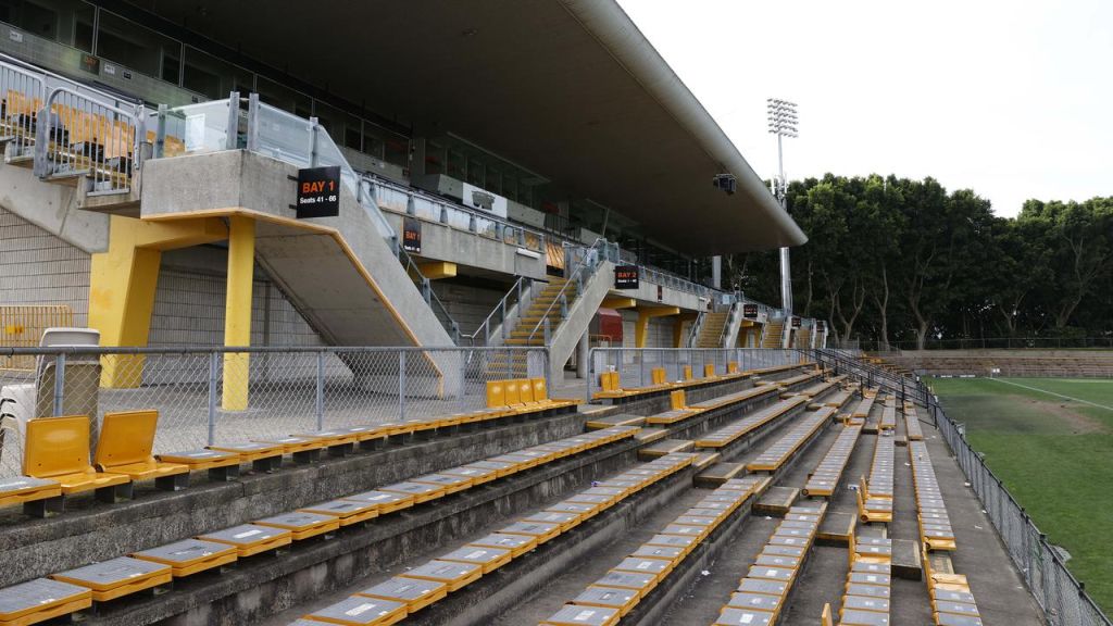
M 728 363 L 737 363 L 739 371 L 747 371 L 807 359 L 807 353 L 799 350 L 761 348 L 593 348 L 588 356 L 588 398 L 600 391 L 602 372 L 619 372 L 623 387 L 649 387 L 657 368 L 664 368 L 666 380 L 678 381 L 684 379 L 686 366 L 691 366 L 692 376 L 700 379 L 707 365 L 713 365 L 715 373 L 722 375 Z

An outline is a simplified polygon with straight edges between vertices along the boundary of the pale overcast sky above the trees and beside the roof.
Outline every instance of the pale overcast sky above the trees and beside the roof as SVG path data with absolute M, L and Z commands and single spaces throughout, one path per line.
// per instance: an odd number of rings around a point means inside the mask
M 790 179 L 896 174 L 1113 196 L 1113 1 L 619 0 L 762 178 L 766 98 L 799 105 Z

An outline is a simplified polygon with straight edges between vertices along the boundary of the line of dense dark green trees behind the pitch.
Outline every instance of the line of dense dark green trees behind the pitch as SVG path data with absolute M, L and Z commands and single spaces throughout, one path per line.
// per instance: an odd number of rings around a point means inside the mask
M 791 251 L 795 313 L 836 341 L 1113 333 L 1113 197 L 1030 199 L 999 217 L 933 178 L 828 174 L 792 182 L 787 204 L 809 237 Z M 779 305 L 776 251 L 726 262 L 733 285 Z

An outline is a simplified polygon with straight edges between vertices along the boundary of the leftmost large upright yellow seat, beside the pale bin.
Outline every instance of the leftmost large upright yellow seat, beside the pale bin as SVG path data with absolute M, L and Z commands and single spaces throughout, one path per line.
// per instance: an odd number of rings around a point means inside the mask
M 63 496 L 131 483 L 126 475 L 99 472 L 89 464 L 87 415 L 38 418 L 27 422 L 23 473 L 58 482 Z

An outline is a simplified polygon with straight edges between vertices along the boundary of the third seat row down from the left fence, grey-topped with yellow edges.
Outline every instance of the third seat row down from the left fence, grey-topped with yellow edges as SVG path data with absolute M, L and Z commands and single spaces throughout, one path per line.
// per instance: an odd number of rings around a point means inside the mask
M 693 458 L 695 454 L 668 454 L 628 470 L 544 511 L 315 610 L 295 624 L 395 624 L 680 471 L 691 464 Z

